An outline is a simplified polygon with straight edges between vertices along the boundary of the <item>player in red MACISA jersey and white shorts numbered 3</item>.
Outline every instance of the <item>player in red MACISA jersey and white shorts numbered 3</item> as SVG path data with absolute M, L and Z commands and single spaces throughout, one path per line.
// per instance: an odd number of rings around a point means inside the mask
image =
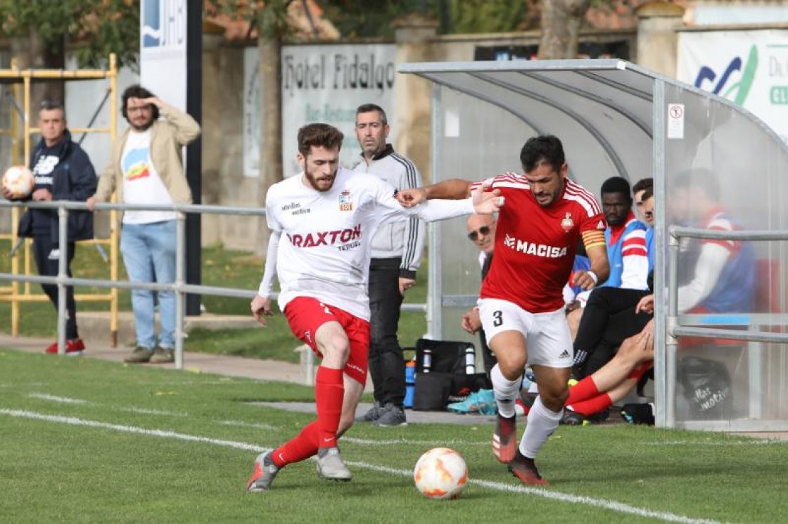
M 534 463 L 556 430 L 569 396 L 572 340 L 564 312 L 563 286 L 582 238 L 591 269 L 574 274 L 574 284 L 593 288 L 608 278 L 606 223 L 597 199 L 567 178 L 563 145 L 555 136 L 528 139 L 520 151 L 524 175 L 506 173 L 485 180 L 507 199 L 496 228 L 495 256 L 478 302 L 481 324 L 498 359 L 492 388 L 498 419 L 492 451 L 526 484 L 545 485 Z M 400 191 L 404 205 L 433 198 L 461 198 L 473 186 L 447 180 Z M 515 400 L 523 370 L 530 364 L 539 396 L 528 414 L 518 446 Z

